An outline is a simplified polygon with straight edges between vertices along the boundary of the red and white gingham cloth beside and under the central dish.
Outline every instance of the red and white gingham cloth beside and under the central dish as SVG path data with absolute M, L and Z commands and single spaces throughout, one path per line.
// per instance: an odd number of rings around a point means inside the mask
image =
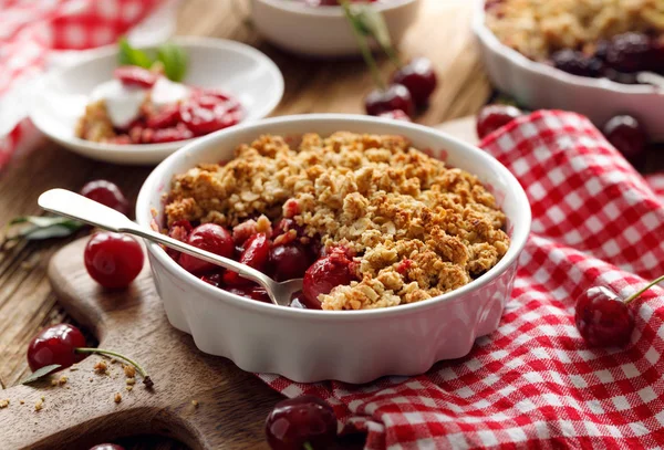
M 536 112 L 481 143 L 520 180 L 532 234 L 498 331 L 464 358 L 362 386 L 260 375 L 288 397 L 326 399 L 367 449 L 664 446 L 664 290 L 641 301 L 624 348 L 574 327 L 592 285 L 622 295 L 664 273 L 664 178 L 639 175 L 577 114 Z M 377 324 L 380 326 L 380 324 Z

